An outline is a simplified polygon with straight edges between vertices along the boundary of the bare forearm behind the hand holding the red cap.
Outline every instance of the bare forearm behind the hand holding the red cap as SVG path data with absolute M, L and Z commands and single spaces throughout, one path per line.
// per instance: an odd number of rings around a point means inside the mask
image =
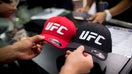
M 0 48 L 0 64 L 5 64 L 17 59 L 12 45 Z

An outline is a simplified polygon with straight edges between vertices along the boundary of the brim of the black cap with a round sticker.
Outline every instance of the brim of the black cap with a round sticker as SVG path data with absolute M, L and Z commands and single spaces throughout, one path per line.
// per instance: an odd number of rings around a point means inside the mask
M 67 45 L 67 48 L 69 48 L 69 50 L 74 50 L 76 49 L 78 46 L 80 46 L 82 44 L 80 43 L 76 43 L 76 42 L 71 42 Z M 89 54 L 101 59 L 101 60 L 106 60 L 107 58 L 107 53 L 99 50 L 99 49 L 96 49 L 96 48 L 93 48 L 93 47 L 89 47 L 87 45 L 83 45 L 85 47 L 85 52 L 88 52 Z

